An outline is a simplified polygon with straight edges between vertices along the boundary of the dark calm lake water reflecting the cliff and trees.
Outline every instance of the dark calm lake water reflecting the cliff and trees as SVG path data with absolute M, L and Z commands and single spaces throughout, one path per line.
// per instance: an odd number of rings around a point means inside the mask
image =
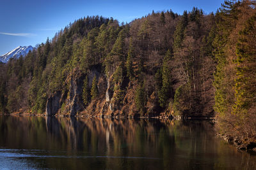
M 211 122 L 0 116 L 0 169 L 256 169 Z

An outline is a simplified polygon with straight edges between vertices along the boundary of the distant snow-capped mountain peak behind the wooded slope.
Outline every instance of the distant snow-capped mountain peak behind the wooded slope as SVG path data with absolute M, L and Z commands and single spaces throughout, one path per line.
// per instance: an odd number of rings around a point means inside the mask
M 17 48 L 15 48 L 14 50 L 12 50 L 11 52 L 8 52 L 2 56 L 0 56 L 0 62 L 6 63 L 8 62 L 8 60 L 10 60 L 13 57 L 19 58 L 21 55 L 25 56 L 28 54 L 29 50 L 33 50 L 33 46 L 29 45 L 29 46 L 18 46 Z

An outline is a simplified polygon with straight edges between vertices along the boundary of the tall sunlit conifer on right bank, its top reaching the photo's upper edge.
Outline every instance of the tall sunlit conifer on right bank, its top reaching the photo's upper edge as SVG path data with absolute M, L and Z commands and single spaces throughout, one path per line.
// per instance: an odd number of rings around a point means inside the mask
M 220 114 L 220 117 L 225 117 L 230 114 L 232 103 L 234 102 L 234 94 L 232 92 L 232 84 L 228 83 L 230 78 L 230 70 L 227 71 L 228 64 L 228 38 L 230 32 L 236 27 L 238 11 L 235 1 L 225 1 L 220 8 L 220 13 L 216 13 L 218 17 L 217 34 L 213 41 L 214 57 L 218 64 L 214 73 L 215 105 L 214 110 Z

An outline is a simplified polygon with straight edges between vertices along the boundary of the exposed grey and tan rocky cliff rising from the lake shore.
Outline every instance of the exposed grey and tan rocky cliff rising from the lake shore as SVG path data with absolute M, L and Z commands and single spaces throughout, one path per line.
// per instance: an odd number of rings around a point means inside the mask
M 113 76 L 106 76 L 100 65 L 95 65 L 88 71 L 88 86 L 92 88 L 93 78 L 97 77 L 99 96 L 86 106 L 83 103 L 84 78 L 79 69 L 74 69 L 65 81 L 65 89 L 55 92 L 47 99 L 45 114 L 48 116 L 99 116 L 99 117 L 136 117 L 139 116 L 134 101 L 136 88 L 129 83 L 125 85 L 127 92 L 124 100 L 118 101 L 118 90 L 115 89 Z M 145 117 L 169 117 L 170 113 L 157 112 L 156 94 L 152 94 L 146 104 Z

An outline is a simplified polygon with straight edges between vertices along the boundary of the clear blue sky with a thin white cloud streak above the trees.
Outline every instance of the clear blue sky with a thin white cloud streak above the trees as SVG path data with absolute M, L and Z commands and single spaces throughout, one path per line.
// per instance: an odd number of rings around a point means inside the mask
M 50 39 L 70 22 L 92 15 L 113 17 L 121 22 L 154 11 L 182 14 L 193 6 L 205 13 L 216 11 L 224 0 L 0 0 L 0 55 L 17 46 L 35 46 Z

